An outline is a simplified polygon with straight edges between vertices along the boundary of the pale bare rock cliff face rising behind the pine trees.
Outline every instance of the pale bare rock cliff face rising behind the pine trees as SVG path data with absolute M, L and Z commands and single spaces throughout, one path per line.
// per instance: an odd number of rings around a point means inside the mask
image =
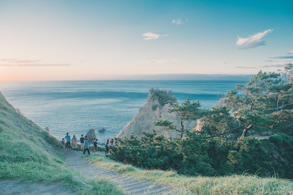
M 143 131 L 152 132 L 153 129 L 158 134 L 163 134 L 163 136 L 168 139 L 170 137 L 178 137 L 180 134 L 178 132 L 173 132 L 171 130 L 162 130 L 162 127 L 154 126 L 153 123 L 157 120 L 168 119 L 173 121 L 177 128 L 180 128 L 180 121 L 177 120 L 177 115 L 175 112 L 168 113 L 168 109 L 172 108 L 170 103 L 164 106 L 158 106 L 153 110 L 153 106 L 160 105 L 157 99 L 149 98 L 148 101 L 139 109 L 139 112 L 133 117 L 133 119 L 116 135 L 116 137 L 124 138 L 129 137 L 131 134 L 136 135 L 140 139 Z M 196 126 L 196 123 L 187 122 L 185 127 Z

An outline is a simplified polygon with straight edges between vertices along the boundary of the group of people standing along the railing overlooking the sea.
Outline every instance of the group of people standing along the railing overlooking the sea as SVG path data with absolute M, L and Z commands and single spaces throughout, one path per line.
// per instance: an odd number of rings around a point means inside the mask
M 88 137 L 85 135 L 81 135 L 81 137 L 79 138 L 80 141 L 80 150 L 84 151 L 83 154 L 86 153 L 86 151 L 88 151 L 88 154 L 90 155 L 90 150 L 89 150 L 89 146 L 91 145 L 88 142 Z M 105 154 L 109 153 L 109 147 L 113 146 L 115 144 L 118 144 L 118 141 L 114 141 L 114 139 L 111 139 L 109 141 L 109 139 L 107 139 L 106 143 L 105 143 Z M 75 135 L 72 136 L 72 139 L 69 135 L 69 132 L 66 133 L 66 136 L 64 138 L 62 138 L 62 145 L 63 145 L 63 149 L 68 148 L 68 150 L 71 150 L 71 148 L 73 150 L 76 150 L 77 148 L 77 138 Z M 92 141 L 92 145 L 93 145 L 93 151 L 96 152 L 98 150 L 98 138 L 94 137 L 93 141 Z

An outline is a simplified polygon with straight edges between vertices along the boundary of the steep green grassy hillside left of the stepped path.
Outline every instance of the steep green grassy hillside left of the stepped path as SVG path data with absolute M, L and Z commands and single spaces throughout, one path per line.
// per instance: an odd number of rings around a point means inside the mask
M 0 180 L 62 184 L 78 194 L 124 194 L 107 180 L 83 180 L 54 151 L 60 141 L 28 120 L 0 92 Z

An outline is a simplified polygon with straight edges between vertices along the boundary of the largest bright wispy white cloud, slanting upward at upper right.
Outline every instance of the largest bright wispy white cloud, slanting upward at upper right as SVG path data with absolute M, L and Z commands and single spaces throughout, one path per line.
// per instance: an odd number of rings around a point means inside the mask
M 241 46 L 240 49 L 255 48 L 257 46 L 265 45 L 265 41 L 262 38 L 272 32 L 274 29 L 268 29 L 263 32 L 258 32 L 254 35 L 249 35 L 247 38 L 238 37 L 236 45 Z

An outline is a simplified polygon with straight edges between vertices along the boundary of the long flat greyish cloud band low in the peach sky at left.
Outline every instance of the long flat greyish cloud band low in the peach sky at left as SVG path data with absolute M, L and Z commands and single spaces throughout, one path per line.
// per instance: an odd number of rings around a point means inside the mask
M 48 64 L 48 63 L 39 63 L 45 59 L 36 59 L 36 60 L 22 60 L 22 59 L 0 59 L 0 67 L 60 67 L 60 66 L 70 66 L 71 64 Z

